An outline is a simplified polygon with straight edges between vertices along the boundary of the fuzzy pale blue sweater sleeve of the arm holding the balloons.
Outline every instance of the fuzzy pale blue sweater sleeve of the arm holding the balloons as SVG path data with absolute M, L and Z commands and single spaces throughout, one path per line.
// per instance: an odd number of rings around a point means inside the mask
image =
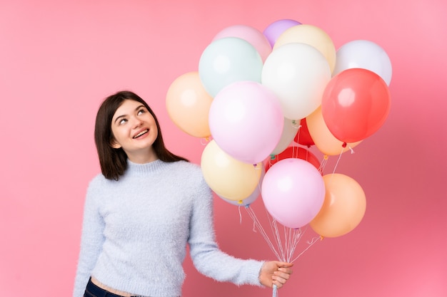
M 191 259 L 196 269 L 216 281 L 262 286 L 259 282 L 259 272 L 263 261 L 237 259 L 219 249 L 214 234 L 211 189 L 202 180 L 197 192 L 189 237 Z

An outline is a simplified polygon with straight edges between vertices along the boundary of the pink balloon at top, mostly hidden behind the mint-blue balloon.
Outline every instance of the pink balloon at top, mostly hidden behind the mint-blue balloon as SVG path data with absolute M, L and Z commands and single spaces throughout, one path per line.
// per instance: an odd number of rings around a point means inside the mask
M 271 45 L 266 36 L 251 26 L 235 25 L 226 27 L 214 36 L 213 41 L 225 37 L 237 37 L 248 41 L 248 43 L 251 43 L 256 48 L 262 61 L 266 61 L 266 58 L 271 53 Z

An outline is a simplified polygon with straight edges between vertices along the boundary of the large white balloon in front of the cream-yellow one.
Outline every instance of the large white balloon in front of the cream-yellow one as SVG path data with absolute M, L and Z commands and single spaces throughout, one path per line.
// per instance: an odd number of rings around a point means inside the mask
M 320 51 L 305 43 L 286 43 L 267 57 L 261 83 L 278 97 L 284 118 L 301 120 L 321 105 L 331 68 Z

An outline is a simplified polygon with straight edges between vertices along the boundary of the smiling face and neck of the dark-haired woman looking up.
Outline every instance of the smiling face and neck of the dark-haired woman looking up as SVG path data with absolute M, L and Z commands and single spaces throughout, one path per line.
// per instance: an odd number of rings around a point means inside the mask
M 154 117 L 143 104 L 124 100 L 112 118 L 112 147 L 122 147 L 129 160 L 145 163 L 156 159 L 152 144 L 159 132 Z

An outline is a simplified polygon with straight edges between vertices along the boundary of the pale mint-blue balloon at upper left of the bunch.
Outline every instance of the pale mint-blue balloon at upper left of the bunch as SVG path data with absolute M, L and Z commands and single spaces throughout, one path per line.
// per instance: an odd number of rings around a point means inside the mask
M 237 37 L 217 39 L 209 44 L 199 61 L 199 77 L 205 90 L 215 97 L 236 81 L 261 83 L 262 58 L 248 41 Z

